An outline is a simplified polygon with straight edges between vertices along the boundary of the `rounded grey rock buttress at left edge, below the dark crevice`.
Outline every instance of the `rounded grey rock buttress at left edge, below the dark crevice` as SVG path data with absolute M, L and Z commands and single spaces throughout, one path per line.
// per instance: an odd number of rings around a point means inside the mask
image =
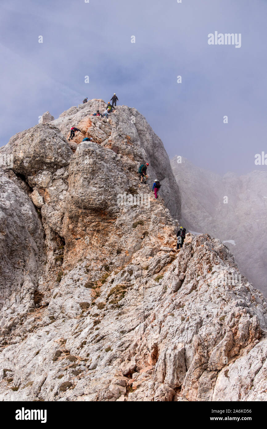
M 8 173 L 0 170 L 0 326 L 6 334 L 35 309 L 45 263 L 42 222 L 20 181 Z

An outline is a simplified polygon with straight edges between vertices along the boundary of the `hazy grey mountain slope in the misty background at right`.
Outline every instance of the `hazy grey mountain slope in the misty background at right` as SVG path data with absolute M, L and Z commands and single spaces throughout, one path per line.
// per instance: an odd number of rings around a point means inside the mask
M 233 252 L 240 271 L 267 296 L 267 173 L 223 177 L 171 160 L 189 230 L 218 237 Z M 227 197 L 227 199 L 225 198 Z

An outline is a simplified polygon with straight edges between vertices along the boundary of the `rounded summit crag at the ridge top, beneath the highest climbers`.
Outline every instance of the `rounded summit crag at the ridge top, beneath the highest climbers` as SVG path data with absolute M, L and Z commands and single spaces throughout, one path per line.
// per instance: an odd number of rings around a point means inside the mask
M 78 108 L 71 107 L 63 112 L 51 124 L 58 127 L 67 138 L 71 127 L 75 126 L 81 133 L 76 133 L 71 140 L 72 144 L 80 143 L 84 137 L 92 137 L 94 142 L 115 151 L 118 154 L 116 159 L 120 159 L 122 164 L 127 162 L 131 172 L 138 171 L 141 163 L 148 162 L 150 181 L 147 183 L 152 187 L 155 179 L 161 182 L 159 195 L 165 199 L 171 214 L 179 216 L 180 191 L 162 141 L 147 124 L 144 116 L 134 108 L 117 106 L 108 120 L 92 116 L 97 110 L 103 112 L 105 108 L 103 100 L 88 100 Z

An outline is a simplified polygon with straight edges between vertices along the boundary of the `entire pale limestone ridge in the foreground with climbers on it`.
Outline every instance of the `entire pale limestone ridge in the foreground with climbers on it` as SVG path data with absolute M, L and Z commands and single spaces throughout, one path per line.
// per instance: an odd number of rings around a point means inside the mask
M 0 175 L 0 400 L 266 400 L 264 297 L 218 239 L 188 233 L 176 252 L 163 145 L 135 109 L 90 115 L 104 107 L 1 149 L 14 166 Z

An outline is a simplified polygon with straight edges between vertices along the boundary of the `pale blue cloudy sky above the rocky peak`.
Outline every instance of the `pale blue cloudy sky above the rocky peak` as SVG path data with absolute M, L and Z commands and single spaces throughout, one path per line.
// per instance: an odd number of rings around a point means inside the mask
M 46 111 L 116 92 L 170 157 L 220 174 L 267 168 L 254 163 L 267 154 L 265 0 L 89 1 L 1 1 L 0 145 Z M 241 33 L 241 48 L 208 45 L 216 30 Z

